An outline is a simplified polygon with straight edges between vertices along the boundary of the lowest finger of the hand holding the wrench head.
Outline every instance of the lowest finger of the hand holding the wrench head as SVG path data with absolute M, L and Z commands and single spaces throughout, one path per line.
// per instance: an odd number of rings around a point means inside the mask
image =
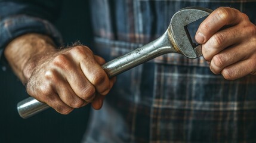
M 255 59 L 255 58 L 252 58 Z M 243 61 L 239 61 L 238 63 L 232 64 L 224 68 L 221 71 L 223 77 L 227 80 L 235 80 L 240 77 L 246 76 L 247 74 L 251 74 L 255 72 L 256 61 L 252 59 L 247 59 Z

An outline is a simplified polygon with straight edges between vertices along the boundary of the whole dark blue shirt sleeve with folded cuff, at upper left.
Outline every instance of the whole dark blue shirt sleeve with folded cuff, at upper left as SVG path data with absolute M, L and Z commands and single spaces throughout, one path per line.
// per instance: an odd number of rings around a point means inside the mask
M 0 1 L 0 66 L 6 70 L 4 48 L 26 33 L 50 36 L 58 46 L 61 35 L 51 23 L 58 18 L 61 1 Z

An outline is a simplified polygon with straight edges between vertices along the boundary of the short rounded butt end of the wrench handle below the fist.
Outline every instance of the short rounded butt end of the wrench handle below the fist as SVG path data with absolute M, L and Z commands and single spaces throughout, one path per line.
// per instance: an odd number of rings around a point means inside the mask
M 47 104 L 39 102 L 33 97 L 26 98 L 25 100 L 22 100 L 17 104 L 18 114 L 20 114 L 20 117 L 22 117 L 23 119 L 27 119 L 28 117 L 44 111 L 49 107 L 50 106 L 48 106 Z

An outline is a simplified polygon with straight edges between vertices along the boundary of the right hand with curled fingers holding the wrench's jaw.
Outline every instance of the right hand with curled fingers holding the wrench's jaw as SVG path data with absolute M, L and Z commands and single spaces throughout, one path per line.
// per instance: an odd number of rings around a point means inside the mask
M 218 8 L 201 23 L 195 38 L 213 73 L 229 80 L 256 75 L 256 26 L 246 14 Z

